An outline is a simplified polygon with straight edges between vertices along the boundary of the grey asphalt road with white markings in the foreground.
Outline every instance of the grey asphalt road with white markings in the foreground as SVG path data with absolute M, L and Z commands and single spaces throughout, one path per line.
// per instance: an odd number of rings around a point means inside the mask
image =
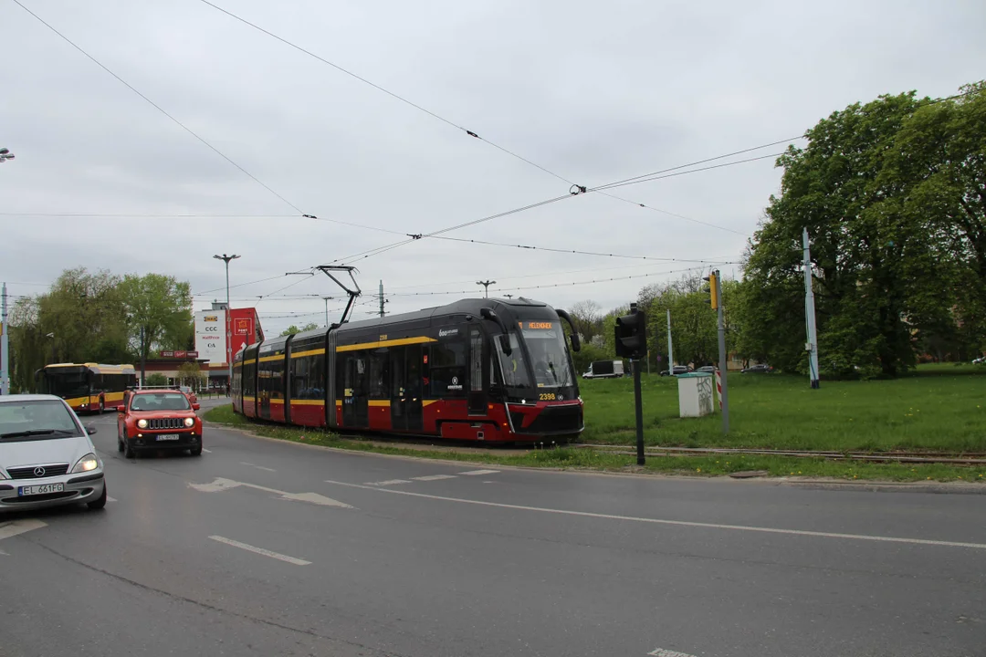
M 84 419 L 85 420 L 85 419 Z M 986 496 L 483 468 L 207 427 L 0 516 L 0 655 L 986 655 Z M 894 539 L 894 540 L 885 540 Z

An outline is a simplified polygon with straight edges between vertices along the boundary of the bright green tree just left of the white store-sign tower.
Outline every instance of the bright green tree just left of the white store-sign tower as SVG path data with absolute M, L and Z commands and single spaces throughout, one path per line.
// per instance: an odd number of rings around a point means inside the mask
M 152 349 L 187 349 L 192 322 L 187 282 L 173 276 L 126 276 L 119 284 L 131 344 L 138 357 Z

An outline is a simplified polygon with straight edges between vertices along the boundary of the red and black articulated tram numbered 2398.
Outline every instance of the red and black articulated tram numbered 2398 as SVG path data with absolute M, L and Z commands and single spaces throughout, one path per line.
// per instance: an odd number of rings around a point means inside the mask
M 582 431 L 564 310 L 462 299 L 250 345 L 233 363 L 247 418 L 487 442 Z M 579 351 L 578 336 L 571 335 Z

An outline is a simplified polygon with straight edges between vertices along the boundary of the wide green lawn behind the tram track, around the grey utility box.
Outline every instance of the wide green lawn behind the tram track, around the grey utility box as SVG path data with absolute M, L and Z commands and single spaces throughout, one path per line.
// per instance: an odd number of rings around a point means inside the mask
M 586 430 L 580 440 L 635 441 L 633 379 L 581 383 Z M 986 452 L 986 367 L 919 368 L 886 381 L 822 381 L 781 374 L 729 376 L 730 434 L 718 411 L 678 418 L 677 380 L 644 374 L 644 439 L 648 445 L 811 450 Z

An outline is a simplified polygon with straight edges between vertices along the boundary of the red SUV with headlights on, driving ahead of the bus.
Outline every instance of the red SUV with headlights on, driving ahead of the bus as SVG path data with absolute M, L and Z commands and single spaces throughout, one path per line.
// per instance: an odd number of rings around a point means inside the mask
M 198 404 L 173 388 L 140 388 L 123 393 L 116 416 L 116 448 L 127 458 L 144 449 L 187 449 L 202 453 Z

